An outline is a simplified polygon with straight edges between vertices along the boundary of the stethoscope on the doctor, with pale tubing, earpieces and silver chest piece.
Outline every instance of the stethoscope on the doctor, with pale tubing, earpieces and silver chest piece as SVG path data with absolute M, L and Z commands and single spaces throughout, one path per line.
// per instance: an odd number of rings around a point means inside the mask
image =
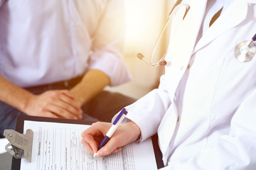
M 164 28 L 161 30 L 161 33 L 159 34 L 159 37 L 156 40 L 156 44 L 154 45 L 154 50 L 151 53 L 150 62 L 145 60 L 145 57 L 144 57 L 144 55 L 142 55 L 142 53 L 137 54 L 137 57 L 140 60 L 146 62 L 146 64 L 149 64 L 150 66 L 166 66 L 167 62 L 165 60 L 165 57 L 166 57 L 166 54 L 167 54 L 168 50 L 166 50 L 163 57 L 161 57 L 161 59 L 158 62 L 155 62 L 155 63 L 153 62 L 154 53 L 156 51 L 156 47 L 159 45 L 159 40 L 161 39 L 161 37 L 164 33 L 164 30 L 168 26 L 171 18 L 174 16 L 176 11 L 178 11 L 178 8 L 181 8 L 182 6 L 186 6 L 186 12 L 183 16 L 183 20 L 186 17 L 186 14 L 188 13 L 188 10 L 189 10 L 190 6 L 188 4 L 181 3 L 181 1 L 182 0 L 176 1 L 176 4 L 174 4 L 174 7 L 171 8 L 171 12 L 169 13 L 169 17 L 166 19 L 166 22 L 164 23 Z M 235 47 L 235 57 L 240 62 L 249 62 L 255 56 L 255 54 L 256 54 L 255 40 L 256 40 L 256 34 L 253 36 L 251 41 L 242 41 Z

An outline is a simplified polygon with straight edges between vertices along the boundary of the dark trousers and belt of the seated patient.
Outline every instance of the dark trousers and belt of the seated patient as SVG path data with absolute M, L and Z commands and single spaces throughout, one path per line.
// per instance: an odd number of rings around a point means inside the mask
M 56 90 L 56 89 L 71 89 L 75 84 L 62 85 L 50 84 L 43 86 L 36 86 L 32 88 L 27 88 L 33 94 L 41 94 L 44 91 Z M 91 101 L 82 106 L 83 119 L 92 121 L 105 121 L 110 122 L 112 117 L 122 110 L 125 106 L 134 103 L 136 99 L 130 98 L 129 96 L 124 96 L 119 93 L 112 93 L 110 91 L 102 91 Z M 9 106 L 8 104 L 0 101 L 0 137 L 4 137 L 4 130 L 14 129 L 16 125 L 17 115 L 26 115 L 16 108 Z

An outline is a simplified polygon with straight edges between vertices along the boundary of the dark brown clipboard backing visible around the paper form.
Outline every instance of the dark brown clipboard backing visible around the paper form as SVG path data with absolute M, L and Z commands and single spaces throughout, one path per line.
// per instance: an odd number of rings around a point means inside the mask
M 51 123 L 70 123 L 70 124 L 80 124 L 80 125 L 91 125 L 92 123 L 94 123 L 88 120 L 69 120 L 69 119 L 60 119 L 60 118 L 44 118 L 44 117 L 29 116 L 29 115 L 18 115 L 16 120 L 16 132 L 23 134 L 23 125 L 25 120 L 51 122 Z M 164 167 L 164 163 L 161 159 L 162 154 L 159 149 L 157 135 L 152 136 L 151 140 L 154 147 L 156 166 L 158 169 L 160 169 Z M 21 159 L 16 159 L 15 157 L 12 157 L 11 170 L 19 170 L 19 169 L 21 169 Z

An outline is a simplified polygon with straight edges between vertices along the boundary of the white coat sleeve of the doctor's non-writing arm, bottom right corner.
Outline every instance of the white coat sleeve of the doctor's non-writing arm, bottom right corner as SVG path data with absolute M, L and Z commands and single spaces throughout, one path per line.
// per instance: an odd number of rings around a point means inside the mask
M 220 136 L 183 164 L 171 163 L 162 170 L 256 169 L 256 89 L 233 115 L 228 135 Z M 186 153 L 184 153 L 186 154 Z

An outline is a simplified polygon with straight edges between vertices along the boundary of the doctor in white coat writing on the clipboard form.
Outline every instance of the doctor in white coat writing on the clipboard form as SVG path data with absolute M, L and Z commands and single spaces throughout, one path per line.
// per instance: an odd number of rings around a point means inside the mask
M 255 169 L 256 1 L 183 3 L 159 88 L 127 106 L 127 123 L 100 151 L 111 124 L 93 124 L 82 144 L 104 157 L 157 132 L 163 169 Z

